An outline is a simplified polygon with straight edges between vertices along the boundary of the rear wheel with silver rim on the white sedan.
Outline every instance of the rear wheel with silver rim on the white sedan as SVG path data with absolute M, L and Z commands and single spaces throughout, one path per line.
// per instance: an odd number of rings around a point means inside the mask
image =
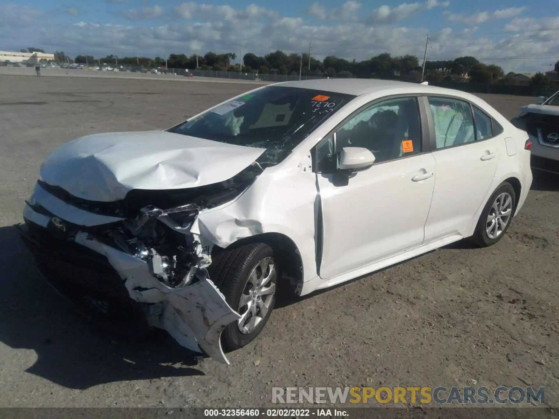
M 477 222 L 473 242 L 480 247 L 494 245 L 501 240 L 513 219 L 516 196 L 510 183 L 503 183 L 491 195 Z

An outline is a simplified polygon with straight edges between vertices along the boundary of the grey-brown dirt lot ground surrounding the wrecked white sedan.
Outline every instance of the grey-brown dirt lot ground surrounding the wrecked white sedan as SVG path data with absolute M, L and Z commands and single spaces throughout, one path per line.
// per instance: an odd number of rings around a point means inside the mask
M 42 159 L 75 137 L 166 128 L 246 84 L 0 75 L 0 406 L 258 407 L 272 387 L 533 385 L 559 406 L 559 183 L 534 184 L 489 249 L 458 243 L 295 302 L 263 335 L 196 362 L 164 334 L 93 331 L 35 270 L 13 224 Z M 484 96 L 511 117 L 530 98 Z

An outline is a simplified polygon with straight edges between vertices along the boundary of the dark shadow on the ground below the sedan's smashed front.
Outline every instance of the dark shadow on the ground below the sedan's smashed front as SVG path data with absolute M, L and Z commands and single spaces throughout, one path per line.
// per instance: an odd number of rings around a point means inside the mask
M 13 226 L 0 227 L 0 266 L 0 341 L 35 351 L 37 360 L 27 373 L 71 389 L 204 375 L 192 368 L 200 354 L 179 346 L 167 332 L 132 342 L 93 329 L 40 277 Z

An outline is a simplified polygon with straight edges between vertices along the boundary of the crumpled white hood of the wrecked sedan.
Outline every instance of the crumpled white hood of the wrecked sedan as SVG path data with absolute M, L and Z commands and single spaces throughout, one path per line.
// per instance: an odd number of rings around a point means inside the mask
M 167 131 L 109 132 L 67 142 L 41 165 L 41 179 L 75 197 L 112 202 L 132 189 L 222 182 L 264 153 Z

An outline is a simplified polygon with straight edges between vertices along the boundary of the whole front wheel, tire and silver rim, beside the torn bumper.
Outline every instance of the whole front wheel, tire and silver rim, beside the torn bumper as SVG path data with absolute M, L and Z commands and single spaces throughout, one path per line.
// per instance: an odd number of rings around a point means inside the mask
M 278 267 L 265 243 L 219 250 L 212 259 L 210 279 L 241 316 L 221 333 L 224 350 L 233 351 L 252 342 L 266 326 L 276 303 Z

